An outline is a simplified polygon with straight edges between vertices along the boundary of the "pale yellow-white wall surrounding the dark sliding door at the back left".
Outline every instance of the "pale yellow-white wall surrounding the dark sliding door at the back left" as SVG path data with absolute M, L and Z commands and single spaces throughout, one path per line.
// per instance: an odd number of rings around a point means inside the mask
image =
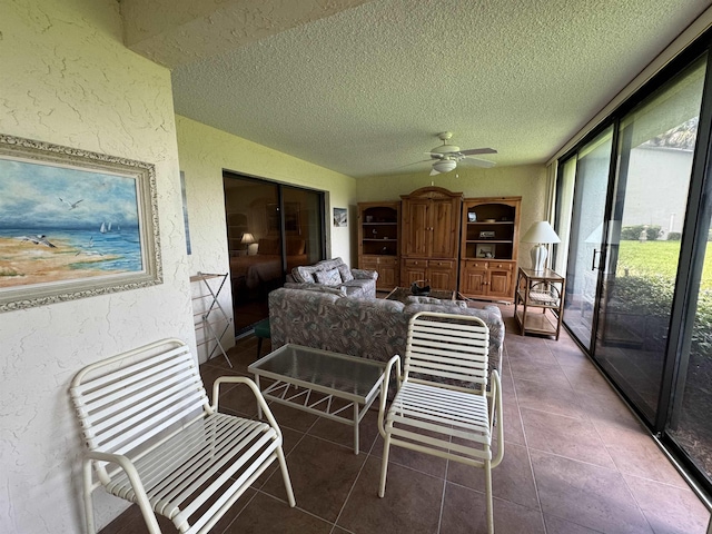
M 186 117 L 176 116 L 180 169 L 186 175 L 186 196 L 190 220 L 190 273 L 226 273 L 229 269 L 225 227 L 222 169 L 275 180 L 281 184 L 326 191 L 327 256 L 340 256 L 356 265 L 352 256 L 349 229 L 334 228 L 333 207 L 355 206 L 356 180 L 324 167 L 271 150 Z M 330 250 L 328 250 L 330 247 Z M 227 298 L 227 297 L 226 297 Z M 229 298 L 227 309 L 231 309 Z

